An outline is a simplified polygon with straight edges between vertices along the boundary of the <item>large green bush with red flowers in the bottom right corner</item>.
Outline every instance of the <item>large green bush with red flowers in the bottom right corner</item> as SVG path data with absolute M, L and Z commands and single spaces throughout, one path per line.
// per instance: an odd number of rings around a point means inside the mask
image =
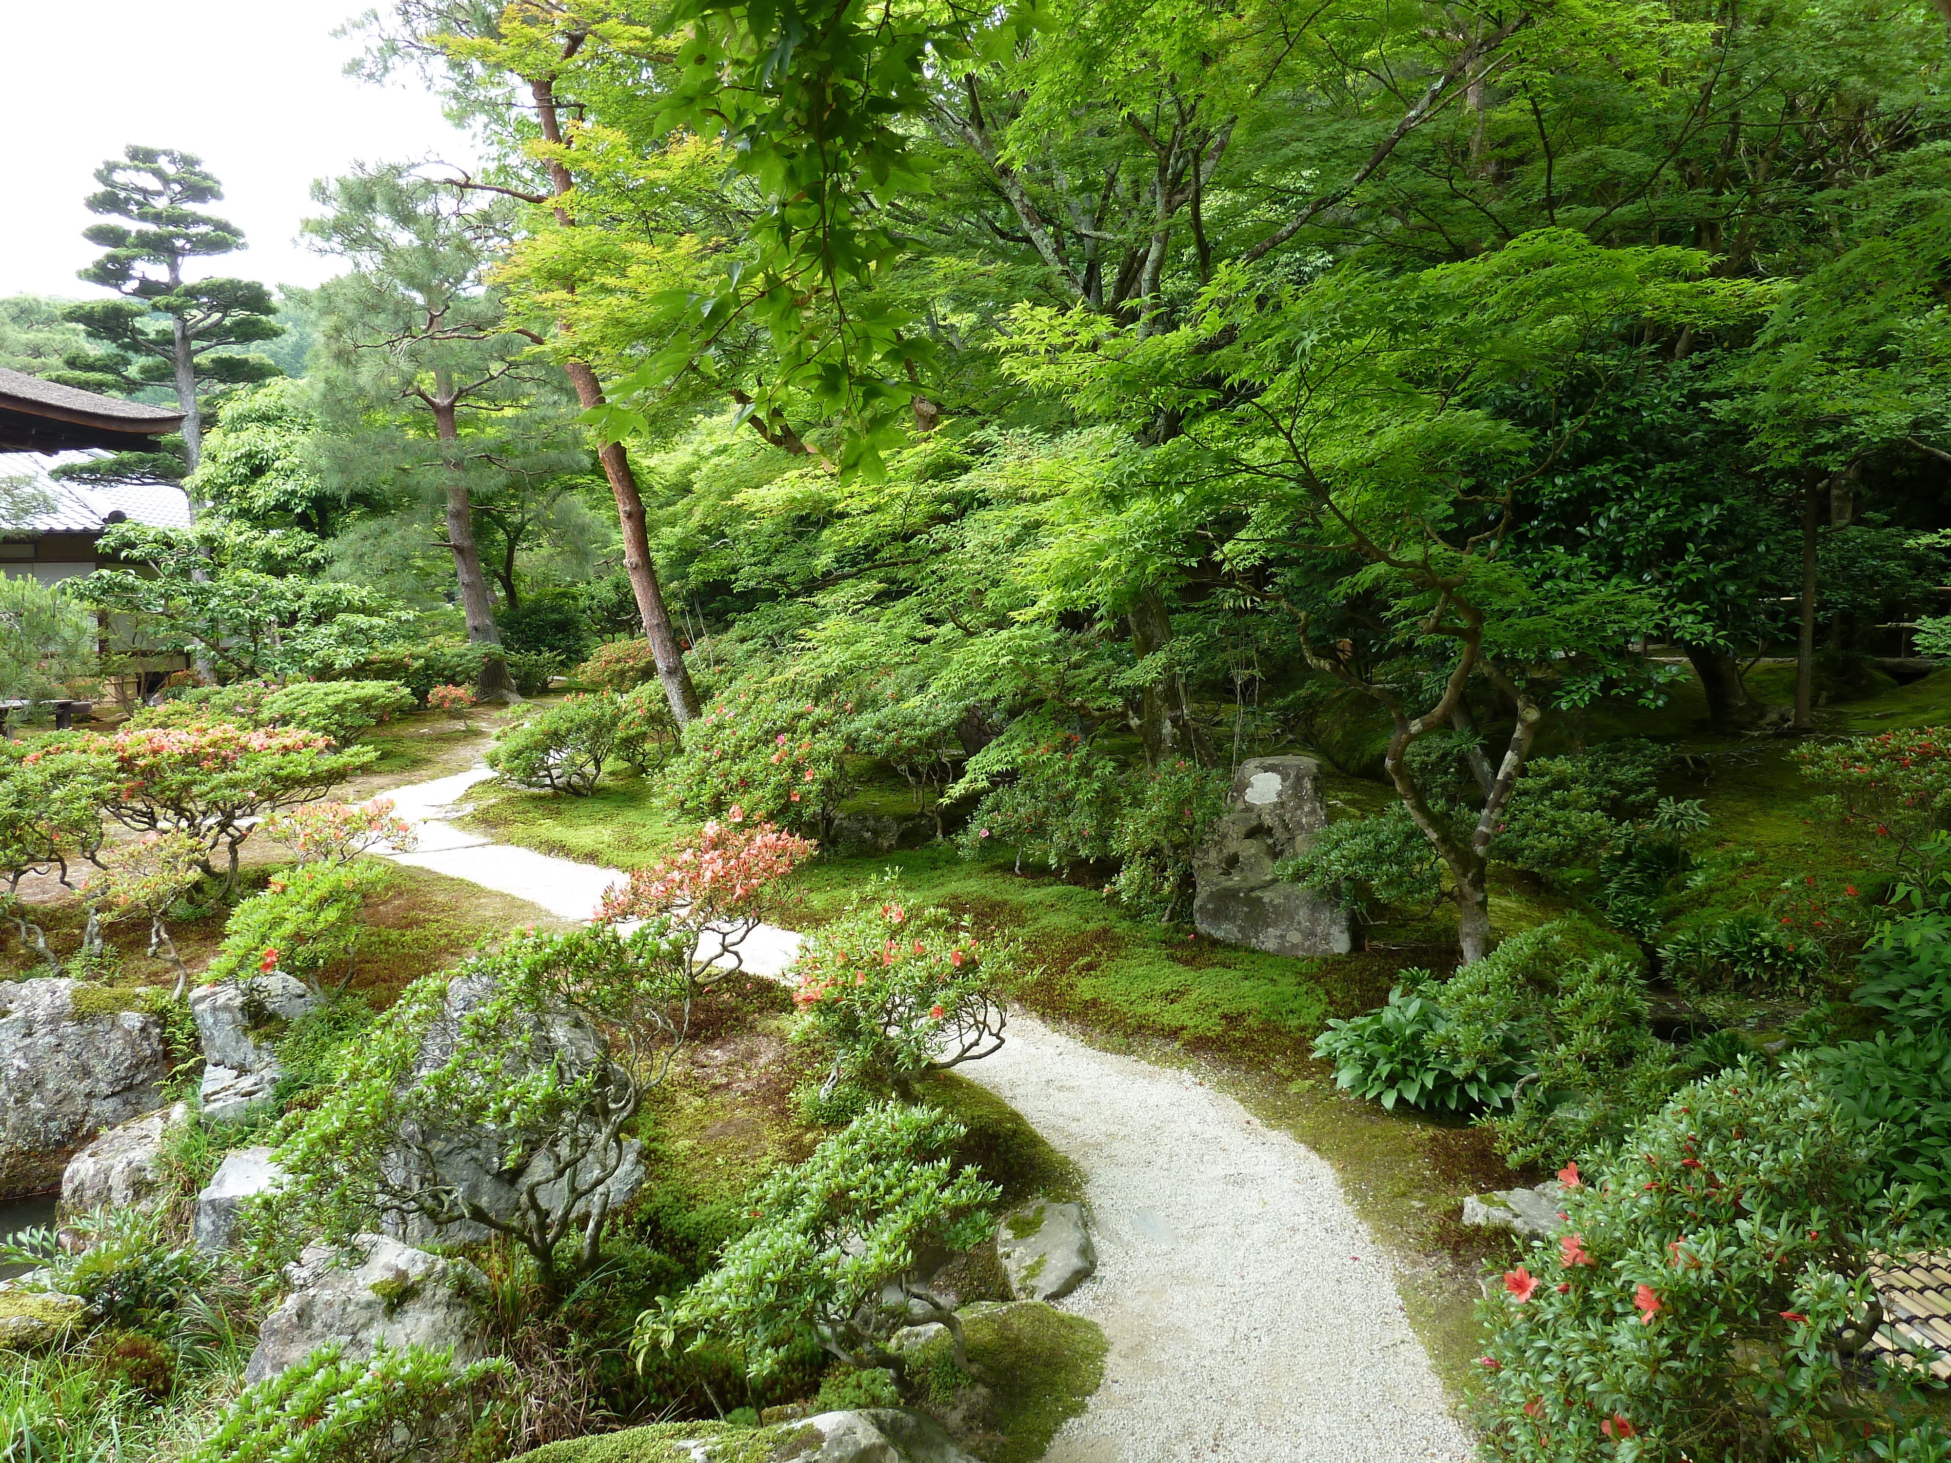
M 1807 1067 L 1736 1067 L 1592 1172 L 1567 1165 L 1563 1227 L 1483 1303 L 1483 1455 L 1943 1457 L 1935 1383 L 1865 1350 L 1871 1256 L 1933 1246 L 1943 1221 L 1918 1190 L 1877 1192 L 1863 1145 Z

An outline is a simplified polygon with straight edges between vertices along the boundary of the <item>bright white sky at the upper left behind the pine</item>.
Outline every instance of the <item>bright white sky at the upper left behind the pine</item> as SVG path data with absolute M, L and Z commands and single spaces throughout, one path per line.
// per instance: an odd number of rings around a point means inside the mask
M 94 170 L 123 146 L 195 152 L 224 185 L 209 213 L 244 248 L 193 275 L 316 285 L 334 261 L 297 242 L 314 178 L 359 162 L 441 156 L 468 138 L 402 72 L 388 86 L 341 74 L 359 49 L 332 31 L 375 0 L 0 0 L 8 98 L 0 295 L 107 298 L 74 271 L 100 254 L 82 228 Z

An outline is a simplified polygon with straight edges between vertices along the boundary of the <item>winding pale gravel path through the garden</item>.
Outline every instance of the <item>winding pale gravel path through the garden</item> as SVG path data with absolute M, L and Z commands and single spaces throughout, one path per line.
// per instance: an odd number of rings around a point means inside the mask
M 421 839 L 394 858 L 587 919 L 620 870 L 445 821 L 488 776 L 388 792 Z M 745 968 L 778 975 L 798 942 L 761 927 Z M 1192 1073 L 1098 1051 L 1026 1014 L 966 1073 L 1085 1172 L 1098 1270 L 1061 1307 L 1096 1321 L 1110 1356 L 1048 1463 L 1471 1455 L 1389 1264 L 1325 1159 Z

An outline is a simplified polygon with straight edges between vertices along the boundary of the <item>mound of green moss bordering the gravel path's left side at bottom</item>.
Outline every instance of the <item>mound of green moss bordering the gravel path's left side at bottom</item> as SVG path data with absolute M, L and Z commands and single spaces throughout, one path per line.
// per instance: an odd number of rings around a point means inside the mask
M 995 1393 L 995 1428 L 1003 1434 L 985 1449 L 987 1463 L 1034 1463 L 1104 1383 L 1110 1342 L 1095 1321 L 1044 1301 L 970 1305 L 962 1328 L 970 1362 Z M 935 1344 L 946 1348 L 946 1340 Z

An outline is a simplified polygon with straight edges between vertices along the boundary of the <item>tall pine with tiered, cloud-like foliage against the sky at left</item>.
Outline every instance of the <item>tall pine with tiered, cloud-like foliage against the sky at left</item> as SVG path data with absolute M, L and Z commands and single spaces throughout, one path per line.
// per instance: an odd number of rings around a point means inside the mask
M 201 158 L 131 144 L 121 160 L 111 158 L 96 170 L 96 181 L 101 189 L 88 195 L 88 211 L 127 222 L 82 230 L 90 244 L 107 252 L 80 277 L 123 298 L 62 310 L 107 349 L 66 357 L 68 371 L 55 380 L 131 394 L 174 388 L 183 410 L 183 453 L 195 468 L 203 451 L 199 396 L 215 386 L 281 375 L 261 355 L 236 353 L 238 345 L 285 334 L 269 318 L 277 304 L 256 281 L 183 279 L 185 261 L 244 246 L 236 224 L 195 207 L 224 195 Z

